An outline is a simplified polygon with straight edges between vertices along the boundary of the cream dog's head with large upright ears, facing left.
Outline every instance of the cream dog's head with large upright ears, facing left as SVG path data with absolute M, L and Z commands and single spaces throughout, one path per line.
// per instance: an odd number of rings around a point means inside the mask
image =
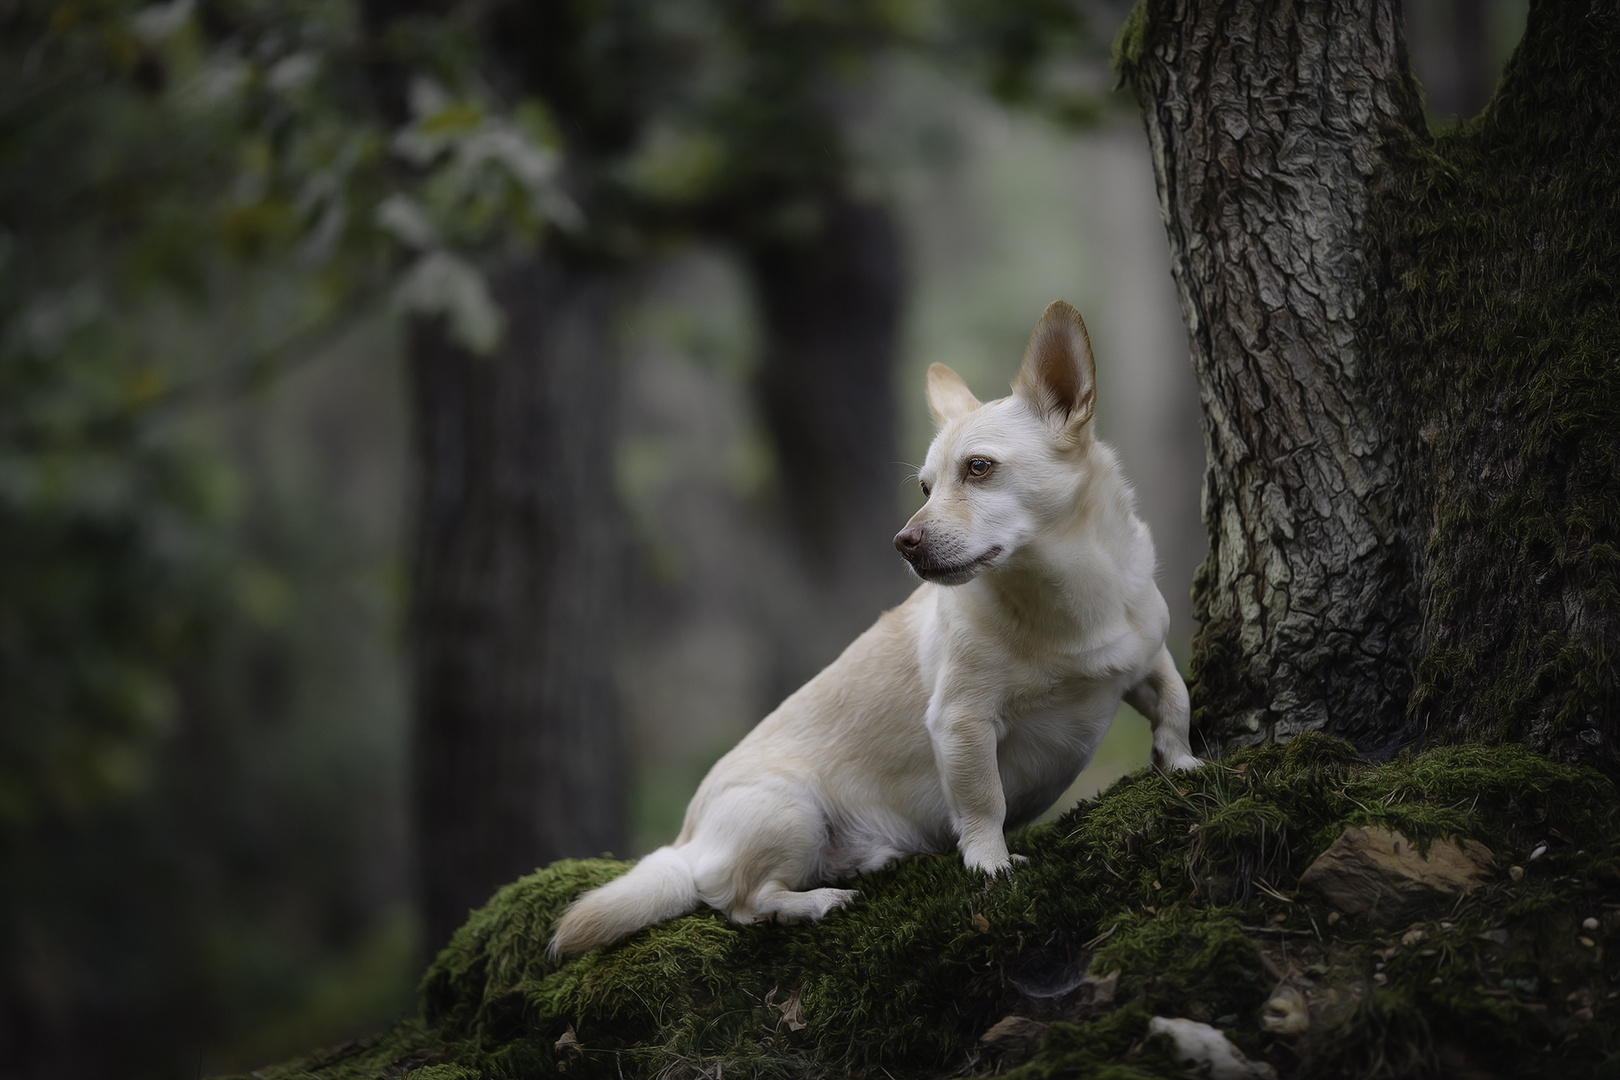
M 894 538 L 917 576 L 970 581 L 1074 513 L 1095 384 L 1085 322 L 1061 300 L 1040 317 L 1011 397 L 980 403 L 954 371 L 928 368 L 938 429 L 919 473 L 928 502 Z

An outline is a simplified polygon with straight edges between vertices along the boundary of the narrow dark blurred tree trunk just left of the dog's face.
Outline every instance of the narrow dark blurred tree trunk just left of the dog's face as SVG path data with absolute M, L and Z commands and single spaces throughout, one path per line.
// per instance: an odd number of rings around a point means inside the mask
M 894 214 L 834 193 L 820 228 L 747 251 L 763 321 L 755 384 L 786 544 L 812 586 L 789 617 L 778 690 L 792 691 L 901 599 L 894 361 L 906 272 Z

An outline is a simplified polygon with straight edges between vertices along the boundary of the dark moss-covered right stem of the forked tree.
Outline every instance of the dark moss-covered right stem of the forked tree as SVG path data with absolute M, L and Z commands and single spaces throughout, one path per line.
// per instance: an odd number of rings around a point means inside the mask
M 1411 717 L 1615 767 L 1620 16 L 1542 3 L 1490 107 L 1372 214 L 1426 541 Z

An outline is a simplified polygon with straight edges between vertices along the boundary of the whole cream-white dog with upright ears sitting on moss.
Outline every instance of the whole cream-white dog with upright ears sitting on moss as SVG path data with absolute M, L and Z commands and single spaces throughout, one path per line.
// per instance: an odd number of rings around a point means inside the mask
M 672 845 L 564 912 L 552 957 L 700 904 L 818 920 L 855 897 L 829 882 L 953 845 L 1011 873 L 1003 831 L 1063 795 L 1121 698 L 1152 722 L 1158 767 L 1200 764 L 1153 541 L 1092 432 L 1094 382 L 1063 301 L 1011 397 L 982 405 L 928 369 L 928 500 L 894 538 L 923 585 L 710 769 Z

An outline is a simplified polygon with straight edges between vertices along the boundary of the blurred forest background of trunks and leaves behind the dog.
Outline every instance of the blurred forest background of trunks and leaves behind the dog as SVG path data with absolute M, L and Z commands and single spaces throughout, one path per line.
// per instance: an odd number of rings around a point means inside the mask
M 667 840 L 910 588 L 927 364 L 1000 395 L 1050 300 L 1186 656 L 1124 16 L 0 0 L 0 1077 L 339 1041 L 501 874 Z M 1521 28 L 1409 6 L 1434 123 Z M 1123 716 L 1071 801 L 1145 756 Z

